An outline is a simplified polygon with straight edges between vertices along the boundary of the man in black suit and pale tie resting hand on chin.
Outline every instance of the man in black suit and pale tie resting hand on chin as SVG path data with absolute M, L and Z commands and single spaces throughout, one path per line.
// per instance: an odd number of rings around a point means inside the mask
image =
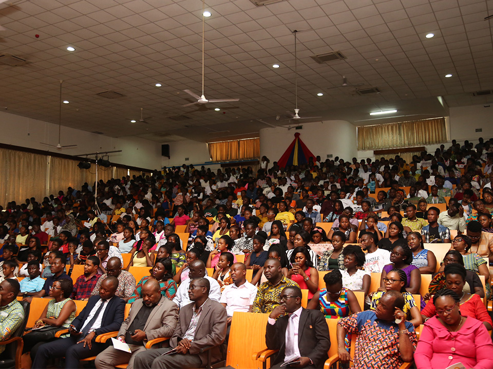
M 283 362 L 294 362 L 288 367 L 323 367 L 330 347 L 324 315 L 319 310 L 301 308 L 298 287 L 283 289 L 280 302 L 269 315 L 266 330 L 267 348 L 279 350 L 271 368 Z

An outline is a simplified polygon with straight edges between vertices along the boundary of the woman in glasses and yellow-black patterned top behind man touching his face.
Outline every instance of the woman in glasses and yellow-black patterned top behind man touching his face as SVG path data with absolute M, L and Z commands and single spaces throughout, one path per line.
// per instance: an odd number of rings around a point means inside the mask
M 385 283 L 385 291 L 377 291 L 373 294 L 371 298 L 370 309 L 376 310 L 376 305 L 380 301 L 380 298 L 387 291 L 397 291 L 404 297 L 404 308 L 402 311 L 406 314 L 406 320 L 408 320 L 415 327 L 423 323 L 421 318 L 420 308 L 416 306 L 414 302 L 414 297 L 412 294 L 406 291 L 407 276 L 406 273 L 401 269 L 392 269 L 387 273 L 387 276 L 383 278 Z

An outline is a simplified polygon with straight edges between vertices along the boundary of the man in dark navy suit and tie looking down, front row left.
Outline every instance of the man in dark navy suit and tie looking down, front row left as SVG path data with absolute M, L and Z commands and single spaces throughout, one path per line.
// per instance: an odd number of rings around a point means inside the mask
M 115 296 L 118 279 L 106 278 L 99 295 L 91 296 L 86 307 L 70 325 L 70 337 L 41 345 L 32 362 L 32 368 L 42 369 L 50 358 L 64 357 L 67 369 L 78 368 L 79 360 L 96 356 L 105 345 L 95 343 L 96 336 L 118 331 L 125 314 L 125 301 Z

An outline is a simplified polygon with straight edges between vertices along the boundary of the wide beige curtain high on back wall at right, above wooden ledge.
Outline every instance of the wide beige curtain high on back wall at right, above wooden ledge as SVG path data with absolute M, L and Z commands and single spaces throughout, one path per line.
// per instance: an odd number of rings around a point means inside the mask
M 447 141 L 445 118 L 358 127 L 358 150 L 382 150 Z

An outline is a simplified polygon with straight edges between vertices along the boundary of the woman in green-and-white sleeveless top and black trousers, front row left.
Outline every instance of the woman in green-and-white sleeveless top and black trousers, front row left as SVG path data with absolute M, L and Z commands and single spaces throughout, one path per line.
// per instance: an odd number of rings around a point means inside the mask
M 36 320 L 32 327 L 33 331 L 22 337 L 24 341 L 23 353 L 30 352 L 31 360 L 36 357 L 39 346 L 54 341 L 56 339 L 55 333 L 68 329 L 72 320 L 75 319 L 77 306 L 70 298 L 71 293 L 71 280 L 60 279 L 53 282 L 49 294 L 51 299 L 48 301 L 48 305 L 41 313 L 40 318 Z M 68 335 L 61 337 L 65 338 Z

